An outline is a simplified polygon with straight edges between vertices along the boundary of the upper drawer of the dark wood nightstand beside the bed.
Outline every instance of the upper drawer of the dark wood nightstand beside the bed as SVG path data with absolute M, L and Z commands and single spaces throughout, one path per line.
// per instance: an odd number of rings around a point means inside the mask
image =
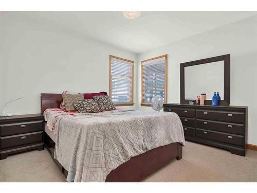
M 31 133 L 43 130 L 43 120 L 0 125 L 0 136 Z

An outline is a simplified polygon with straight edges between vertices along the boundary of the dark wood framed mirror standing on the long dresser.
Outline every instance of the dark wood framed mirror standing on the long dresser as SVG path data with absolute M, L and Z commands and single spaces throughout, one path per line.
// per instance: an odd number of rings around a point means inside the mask
M 180 103 L 196 101 L 206 94 L 206 105 L 212 104 L 214 92 L 219 92 L 219 105 L 230 104 L 230 55 L 216 56 L 180 64 Z

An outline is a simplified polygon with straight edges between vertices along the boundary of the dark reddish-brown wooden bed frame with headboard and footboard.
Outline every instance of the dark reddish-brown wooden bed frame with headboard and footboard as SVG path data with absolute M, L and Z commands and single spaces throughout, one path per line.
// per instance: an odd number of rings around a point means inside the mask
M 61 94 L 41 94 L 41 111 L 42 113 L 49 108 L 60 108 L 62 102 Z M 53 158 L 54 142 L 45 133 L 45 147 Z M 182 158 L 182 145 L 179 143 L 172 143 L 166 146 L 161 146 L 143 154 L 131 157 L 131 159 L 121 164 L 106 177 L 105 182 L 139 182 L 149 174 L 153 173 L 162 166 L 168 164 L 171 160 Z M 54 159 L 53 159 L 54 160 Z M 67 177 L 67 171 L 57 161 L 59 168 Z

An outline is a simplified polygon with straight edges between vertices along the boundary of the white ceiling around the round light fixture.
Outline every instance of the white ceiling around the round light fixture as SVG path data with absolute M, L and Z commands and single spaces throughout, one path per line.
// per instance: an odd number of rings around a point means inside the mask
M 18 13 L 136 54 L 257 14 L 245 11 L 143 11 L 137 19 L 128 20 L 121 11 Z

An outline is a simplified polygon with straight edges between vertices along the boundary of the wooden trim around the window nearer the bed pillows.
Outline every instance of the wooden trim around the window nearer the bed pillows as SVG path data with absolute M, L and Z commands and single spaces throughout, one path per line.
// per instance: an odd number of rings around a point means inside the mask
M 124 60 L 126 62 L 133 63 L 132 65 L 132 77 L 131 77 L 131 101 L 126 103 L 114 103 L 116 107 L 118 106 L 134 106 L 134 61 L 127 60 L 124 58 L 120 58 L 117 56 L 109 55 L 109 97 L 112 99 L 112 72 L 111 72 L 111 66 L 112 66 L 112 58 Z

